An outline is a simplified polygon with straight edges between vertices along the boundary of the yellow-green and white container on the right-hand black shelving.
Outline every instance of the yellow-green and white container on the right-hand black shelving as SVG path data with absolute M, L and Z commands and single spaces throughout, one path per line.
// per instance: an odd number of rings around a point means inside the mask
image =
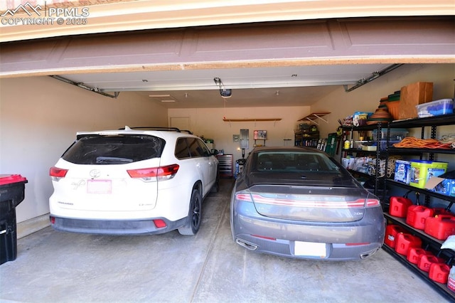
M 410 186 L 424 188 L 430 177 L 444 174 L 447 165 L 447 162 L 412 160 Z

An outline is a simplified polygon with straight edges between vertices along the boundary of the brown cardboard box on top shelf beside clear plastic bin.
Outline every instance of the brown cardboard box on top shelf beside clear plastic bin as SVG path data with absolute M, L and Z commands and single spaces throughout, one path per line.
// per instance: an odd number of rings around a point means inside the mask
M 416 82 L 401 87 L 398 119 L 417 117 L 416 105 L 433 100 L 433 83 Z

